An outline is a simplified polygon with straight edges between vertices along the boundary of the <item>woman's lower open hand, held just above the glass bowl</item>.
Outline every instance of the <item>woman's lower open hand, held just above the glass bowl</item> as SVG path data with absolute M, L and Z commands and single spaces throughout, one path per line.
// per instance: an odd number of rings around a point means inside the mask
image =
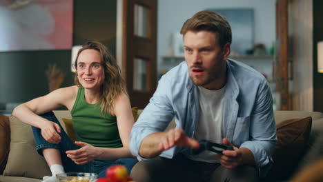
M 97 148 L 88 143 L 75 141 L 75 145 L 79 145 L 82 148 L 78 150 L 68 150 L 66 151 L 66 154 L 77 165 L 88 163 L 99 156 L 99 151 Z

